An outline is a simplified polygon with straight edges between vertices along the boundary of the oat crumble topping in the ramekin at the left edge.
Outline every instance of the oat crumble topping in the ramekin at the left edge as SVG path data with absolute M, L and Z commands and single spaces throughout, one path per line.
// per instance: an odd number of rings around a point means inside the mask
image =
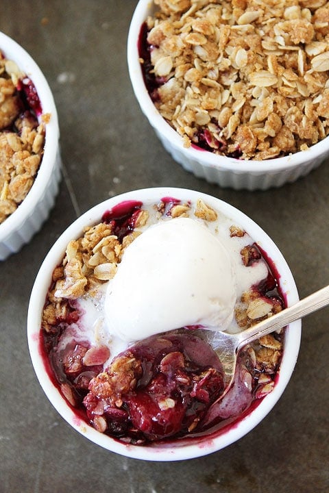
M 19 91 L 25 75 L 0 51 L 0 224 L 31 189 L 42 160 L 50 115 L 26 109 Z

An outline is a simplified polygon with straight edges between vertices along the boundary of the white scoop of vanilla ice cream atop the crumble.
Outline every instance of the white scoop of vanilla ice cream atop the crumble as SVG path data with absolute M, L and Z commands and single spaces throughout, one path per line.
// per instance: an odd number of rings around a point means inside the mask
M 149 227 L 125 250 L 105 299 L 108 330 L 134 341 L 186 325 L 230 325 L 236 276 L 227 249 L 190 218 Z

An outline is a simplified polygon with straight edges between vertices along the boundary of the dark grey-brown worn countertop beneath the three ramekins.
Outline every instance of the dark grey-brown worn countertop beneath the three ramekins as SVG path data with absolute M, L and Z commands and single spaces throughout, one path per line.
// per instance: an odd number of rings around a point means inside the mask
M 300 296 L 328 283 L 329 166 L 266 192 L 221 189 L 164 151 L 134 99 L 126 39 L 136 0 L 2 0 L 0 31 L 45 73 L 58 108 L 64 179 L 49 220 L 0 263 L 0 491 L 3 493 L 323 493 L 329 490 L 328 309 L 303 322 L 293 377 L 272 412 L 228 448 L 186 462 L 141 462 L 71 429 L 42 392 L 26 316 L 38 267 L 78 214 L 134 188 L 180 186 L 228 201 L 278 244 Z

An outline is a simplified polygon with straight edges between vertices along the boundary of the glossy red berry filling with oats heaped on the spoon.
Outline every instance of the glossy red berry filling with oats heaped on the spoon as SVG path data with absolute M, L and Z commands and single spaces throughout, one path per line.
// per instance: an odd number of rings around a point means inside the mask
M 145 442 L 195 429 L 223 390 L 223 371 L 202 339 L 155 336 L 115 357 L 89 390 L 84 405 L 92 422 L 103 416 L 105 431 Z

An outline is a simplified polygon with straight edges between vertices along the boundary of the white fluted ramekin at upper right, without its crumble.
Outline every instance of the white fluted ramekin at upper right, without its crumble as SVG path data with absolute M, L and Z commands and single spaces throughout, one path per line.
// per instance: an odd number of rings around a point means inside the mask
M 307 151 L 264 161 L 237 160 L 186 148 L 180 135 L 162 118 L 144 84 L 138 55 L 141 26 L 154 11 L 154 3 L 140 0 L 134 11 L 127 41 L 127 62 L 136 99 L 163 146 L 184 169 L 210 183 L 235 190 L 267 190 L 293 182 L 317 168 L 329 154 L 329 137 Z

